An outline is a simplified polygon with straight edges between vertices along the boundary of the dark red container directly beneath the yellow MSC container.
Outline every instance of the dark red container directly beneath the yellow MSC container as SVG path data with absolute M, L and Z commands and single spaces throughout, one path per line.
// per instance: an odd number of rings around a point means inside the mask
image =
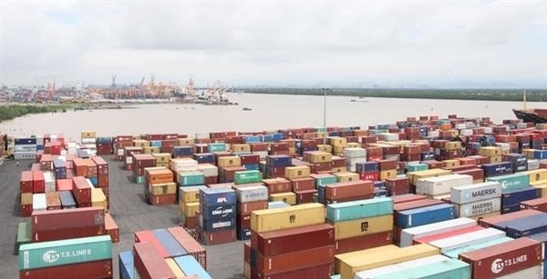
M 366 234 L 335 241 L 335 254 L 365 250 L 393 243 L 393 233 Z

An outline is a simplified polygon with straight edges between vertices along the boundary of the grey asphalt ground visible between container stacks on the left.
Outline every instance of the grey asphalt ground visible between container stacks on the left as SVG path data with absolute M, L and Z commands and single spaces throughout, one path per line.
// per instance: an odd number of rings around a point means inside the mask
M 177 226 L 178 204 L 153 206 L 143 200 L 142 186 L 131 182 L 131 172 L 123 170 L 122 162 L 108 161 L 110 210 L 119 226 L 119 243 L 113 244 L 114 278 L 119 278 L 118 254 L 131 251 L 135 232 Z M 19 209 L 19 179 L 21 172 L 30 169 L 30 161 L 14 161 L 0 165 L 0 278 L 18 278 L 15 254 L 17 225 L 23 218 Z M 243 242 L 206 246 L 207 271 L 212 278 L 243 277 Z

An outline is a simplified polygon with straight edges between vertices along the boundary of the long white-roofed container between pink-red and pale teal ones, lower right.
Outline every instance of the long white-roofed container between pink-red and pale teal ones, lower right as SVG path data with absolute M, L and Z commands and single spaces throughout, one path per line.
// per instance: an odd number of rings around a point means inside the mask
M 435 240 L 429 242 L 428 244 L 438 247 L 440 249 L 440 253 L 445 254 L 454 249 L 467 247 L 473 244 L 480 244 L 502 236 L 505 236 L 505 232 L 494 228 L 487 228 L 480 231 Z

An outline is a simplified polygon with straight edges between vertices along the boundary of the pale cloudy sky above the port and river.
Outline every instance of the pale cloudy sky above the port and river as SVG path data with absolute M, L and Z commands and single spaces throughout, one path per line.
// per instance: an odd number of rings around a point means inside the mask
M 547 88 L 547 2 L 0 0 L 2 85 Z

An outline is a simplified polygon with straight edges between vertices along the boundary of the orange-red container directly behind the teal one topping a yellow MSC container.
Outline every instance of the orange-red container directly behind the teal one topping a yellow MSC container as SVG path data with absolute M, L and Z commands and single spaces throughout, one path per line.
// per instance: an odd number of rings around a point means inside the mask
M 325 199 L 343 200 L 357 195 L 374 194 L 372 181 L 358 180 L 328 184 L 325 186 Z

